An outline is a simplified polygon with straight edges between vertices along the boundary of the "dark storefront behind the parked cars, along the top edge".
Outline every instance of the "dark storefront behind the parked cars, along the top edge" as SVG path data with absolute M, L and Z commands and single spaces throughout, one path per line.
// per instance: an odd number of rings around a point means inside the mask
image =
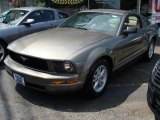
M 137 1 L 141 1 L 141 13 L 148 16 L 149 4 L 160 0 L 0 0 L 0 13 L 13 7 L 44 6 L 75 13 L 92 8 L 113 8 L 137 10 Z M 159 2 L 160 3 L 160 2 Z

